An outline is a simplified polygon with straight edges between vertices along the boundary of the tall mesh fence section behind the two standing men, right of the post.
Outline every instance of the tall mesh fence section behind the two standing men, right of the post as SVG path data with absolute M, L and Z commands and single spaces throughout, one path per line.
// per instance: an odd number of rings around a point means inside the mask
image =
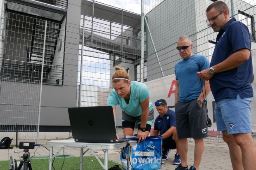
M 211 62 L 218 33 L 214 33 L 206 21 L 206 8 L 216 0 L 168 1 L 142 0 L 142 40 L 147 41 L 142 56 L 147 62 L 147 86 L 151 92 L 150 99 L 158 100 L 162 96 L 168 106 L 174 109 L 175 64 L 181 60 L 176 50 L 177 40 L 187 35 L 193 43 L 193 54 L 204 55 Z M 230 17 L 244 23 L 251 34 L 251 51 L 255 75 L 255 0 L 222 0 L 230 9 Z M 143 47 L 142 47 L 143 48 Z M 144 53 L 144 54 L 143 54 Z M 143 67 L 142 67 L 143 68 Z M 142 75 L 143 76 L 143 75 Z M 141 79 L 143 81 L 143 79 Z M 251 81 L 253 88 L 256 82 Z M 191 86 L 191 84 L 187 84 Z M 251 102 L 252 135 L 256 132 L 256 98 Z M 205 141 L 223 142 L 222 134 L 216 130 L 214 117 L 214 98 L 207 96 L 209 117 L 213 126 L 209 128 L 209 137 Z M 156 114 L 155 114 L 156 115 Z M 254 136 L 254 135 L 253 135 Z M 192 139 L 191 139 L 192 140 Z

